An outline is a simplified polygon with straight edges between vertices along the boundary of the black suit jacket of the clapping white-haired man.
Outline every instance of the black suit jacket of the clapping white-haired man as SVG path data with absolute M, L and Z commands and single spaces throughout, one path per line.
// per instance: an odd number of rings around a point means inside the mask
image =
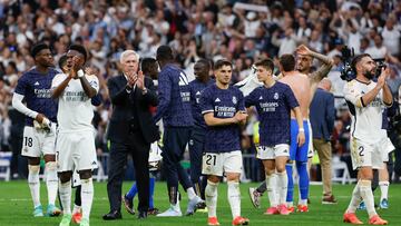
M 147 143 L 159 138 L 156 124 L 153 120 L 150 106 L 157 106 L 158 98 L 156 87 L 150 78 L 145 77 L 147 94 L 135 88 L 130 94 L 126 90 L 127 79 L 124 75 L 110 78 L 107 82 L 113 104 L 113 114 L 108 125 L 107 138 L 115 143 L 127 141 L 130 128 L 130 119 L 138 117 L 139 129 Z M 135 112 L 134 112 L 135 111 Z

